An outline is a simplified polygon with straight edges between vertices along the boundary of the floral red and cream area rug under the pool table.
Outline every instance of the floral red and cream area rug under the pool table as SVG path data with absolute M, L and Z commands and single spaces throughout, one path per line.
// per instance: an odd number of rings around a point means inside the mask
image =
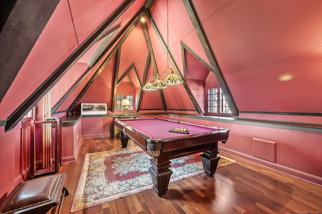
M 204 173 L 200 154 L 171 160 L 170 182 Z M 235 163 L 220 155 L 218 168 Z M 152 189 L 150 157 L 139 147 L 86 154 L 71 211 Z

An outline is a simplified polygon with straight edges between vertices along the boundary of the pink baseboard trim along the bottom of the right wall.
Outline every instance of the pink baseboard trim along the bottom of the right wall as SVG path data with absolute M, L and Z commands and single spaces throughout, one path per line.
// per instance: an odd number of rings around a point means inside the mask
M 316 184 L 318 186 L 322 186 L 322 177 L 311 175 L 311 174 L 308 174 L 306 172 L 302 172 L 302 171 L 292 169 L 292 168 L 289 168 L 289 167 L 286 167 L 286 166 L 282 166 L 282 165 L 279 165 L 279 164 L 276 164 L 276 163 L 272 163 L 270 161 L 266 161 L 266 160 L 263 160 L 263 159 L 260 159 L 260 158 L 256 158 L 256 157 L 253 157 L 251 155 L 247 155 L 247 154 L 237 152 L 237 151 L 234 151 L 234 150 L 231 150 L 231 149 L 227 149 L 227 148 L 224 148 L 224 147 L 221 147 L 221 146 L 218 146 L 218 148 L 220 149 L 220 151 L 225 152 L 225 153 L 227 153 L 229 155 L 233 155 L 233 156 L 236 156 L 238 158 L 241 158 L 241 159 L 244 159 L 244 160 L 247 160 L 247 161 L 262 165 L 262 166 L 265 166 L 267 168 L 282 172 L 284 174 L 288 174 L 290 176 L 299 178 L 301 180 L 305 180 L 307 182 Z

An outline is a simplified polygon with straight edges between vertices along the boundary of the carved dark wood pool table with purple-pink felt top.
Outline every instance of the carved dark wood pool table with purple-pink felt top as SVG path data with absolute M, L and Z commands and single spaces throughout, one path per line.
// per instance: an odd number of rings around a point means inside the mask
M 121 130 L 123 148 L 130 138 L 151 156 L 149 171 L 158 196 L 168 190 L 171 159 L 203 152 L 204 171 L 213 176 L 220 159 L 218 141 L 226 143 L 229 134 L 228 129 L 161 118 L 115 120 L 114 124 Z

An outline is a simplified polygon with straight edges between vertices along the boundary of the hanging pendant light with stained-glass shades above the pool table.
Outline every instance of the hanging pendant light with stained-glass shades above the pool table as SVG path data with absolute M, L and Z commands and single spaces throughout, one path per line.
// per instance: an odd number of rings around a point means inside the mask
M 169 0 L 167 0 L 167 69 L 162 72 L 162 75 L 157 74 L 156 77 L 151 76 L 148 83 L 144 85 L 142 90 L 162 89 L 162 88 L 166 88 L 167 85 L 175 85 L 183 82 L 182 78 L 179 77 L 177 74 L 175 74 L 172 68 L 169 68 L 169 2 L 168 1 Z M 151 29 L 153 30 L 152 27 L 153 27 L 153 17 L 152 17 L 152 10 L 151 10 Z M 151 36 L 152 36 L 152 33 L 151 33 Z M 163 78 L 165 74 L 169 74 L 169 75 L 162 81 L 161 78 Z M 153 79 L 155 81 L 151 83 Z

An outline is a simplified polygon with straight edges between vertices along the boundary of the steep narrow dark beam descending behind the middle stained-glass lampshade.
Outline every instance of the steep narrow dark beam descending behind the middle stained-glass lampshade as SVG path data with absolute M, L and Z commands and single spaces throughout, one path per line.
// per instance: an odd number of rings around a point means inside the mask
M 152 44 L 151 44 L 149 32 L 147 30 L 146 22 L 141 22 L 141 26 L 142 26 L 142 30 L 143 30 L 143 34 L 144 34 L 144 38 L 145 38 L 145 42 L 146 42 L 146 46 L 147 46 L 147 50 L 151 53 L 150 54 L 150 60 L 151 60 L 152 70 L 154 71 L 154 76 L 156 76 L 158 74 L 158 70 L 157 70 L 157 67 L 156 67 L 156 61 L 155 61 L 155 57 L 154 57 L 154 53 L 153 53 L 153 47 L 152 47 Z M 147 75 L 147 73 L 145 75 Z M 145 82 L 143 82 L 143 85 L 144 84 L 145 84 Z M 162 100 L 162 103 L 163 103 L 163 108 L 167 112 L 168 107 L 167 107 L 167 103 L 166 103 L 166 99 L 165 99 L 165 94 L 164 94 L 162 89 L 159 89 L 159 93 L 160 93 L 161 100 Z

